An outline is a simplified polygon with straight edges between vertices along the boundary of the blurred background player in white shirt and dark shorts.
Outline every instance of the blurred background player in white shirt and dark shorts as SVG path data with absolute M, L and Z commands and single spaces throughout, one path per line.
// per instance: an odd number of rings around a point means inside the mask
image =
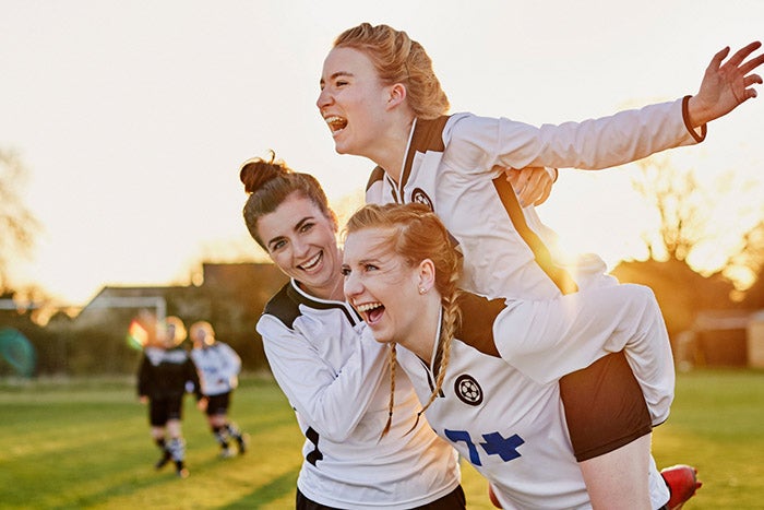
M 199 370 L 202 399 L 198 407 L 207 415 L 207 423 L 215 440 L 220 444 L 220 456 L 234 455 L 230 440 L 236 440 L 239 453 L 247 451 L 246 436 L 228 420 L 231 392 L 239 383 L 241 358 L 228 344 L 215 339 L 215 330 L 206 321 L 191 324 L 189 329 L 193 349 L 191 358 Z

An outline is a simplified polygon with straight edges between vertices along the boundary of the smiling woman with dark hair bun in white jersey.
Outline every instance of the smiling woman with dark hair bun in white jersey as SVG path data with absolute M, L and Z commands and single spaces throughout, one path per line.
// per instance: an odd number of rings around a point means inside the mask
M 394 434 L 380 440 L 386 349 L 361 341 L 366 324 L 343 297 L 337 222 L 318 180 L 273 154 L 244 162 L 240 178 L 244 223 L 289 276 L 256 330 L 306 436 L 296 508 L 466 508 L 455 450 L 423 419 L 406 434 L 420 406 L 405 376 L 394 389 Z

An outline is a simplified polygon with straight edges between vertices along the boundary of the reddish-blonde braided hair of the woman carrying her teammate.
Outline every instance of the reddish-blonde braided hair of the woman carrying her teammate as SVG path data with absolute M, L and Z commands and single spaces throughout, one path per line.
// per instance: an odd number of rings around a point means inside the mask
M 387 242 L 391 249 L 411 268 L 429 259 L 435 266 L 434 288 L 441 296 L 443 309 L 441 334 L 438 351 L 441 353 L 435 375 L 435 388 L 429 401 L 417 414 L 419 416 L 434 402 L 443 387 L 445 369 L 451 357 L 451 344 L 461 322 L 461 312 L 456 304 L 458 288 L 456 283 L 462 274 L 462 257 L 454 249 L 451 236 L 440 218 L 427 206 L 418 203 L 409 204 L 369 204 L 356 212 L 348 220 L 345 232 L 347 235 L 365 228 L 382 228 L 390 233 Z M 390 348 L 391 393 L 387 424 L 382 436 L 387 434 L 392 424 L 393 406 L 395 404 L 395 343 Z M 414 424 L 414 429 L 417 425 Z

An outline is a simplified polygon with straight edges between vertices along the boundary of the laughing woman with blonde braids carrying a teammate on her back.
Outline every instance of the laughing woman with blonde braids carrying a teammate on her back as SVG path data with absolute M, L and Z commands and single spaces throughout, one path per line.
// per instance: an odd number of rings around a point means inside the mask
M 667 342 L 652 290 L 613 285 L 489 301 L 457 290 L 462 257 L 427 206 L 367 205 L 346 229 L 345 294 L 365 334 L 392 345 L 391 363 L 414 384 L 430 426 L 488 478 L 496 503 L 592 508 L 558 380 L 610 352 Z M 595 311 L 607 324 L 589 319 Z M 508 344 L 511 358 L 499 354 Z M 421 419 L 409 418 L 409 428 Z M 636 487 L 644 500 L 620 508 L 670 508 L 655 462 L 644 462 L 649 475 Z

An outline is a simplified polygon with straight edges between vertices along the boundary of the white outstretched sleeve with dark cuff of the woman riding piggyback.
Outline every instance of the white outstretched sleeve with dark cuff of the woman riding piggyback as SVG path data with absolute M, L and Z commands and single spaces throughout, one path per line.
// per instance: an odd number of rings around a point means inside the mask
M 506 118 L 464 116 L 451 127 L 447 164 L 490 170 L 493 166 L 602 169 L 703 141 L 688 128 L 677 99 L 582 122 L 534 127 Z

